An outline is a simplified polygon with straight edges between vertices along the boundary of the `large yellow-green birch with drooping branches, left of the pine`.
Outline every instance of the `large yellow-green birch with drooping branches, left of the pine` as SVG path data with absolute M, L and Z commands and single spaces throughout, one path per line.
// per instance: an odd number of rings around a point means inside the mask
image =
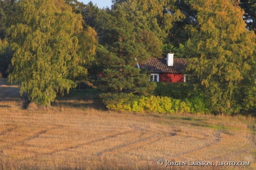
M 76 84 L 72 81 L 89 62 L 96 32 L 83 31 L 82 16 L 63 0 L 23 0 L 18 22 L 11 27 L 13 71 L 9 81 L 21 85 L 30 101 L 49 106 L 56 93 Z

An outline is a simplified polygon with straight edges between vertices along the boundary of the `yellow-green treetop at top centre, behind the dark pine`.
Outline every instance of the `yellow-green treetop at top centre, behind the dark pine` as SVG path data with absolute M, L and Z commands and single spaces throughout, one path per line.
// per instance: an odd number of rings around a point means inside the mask
M 127 14 L 127 20 L 136 28 L 154 32 L 163 43 L 169 41 L 170 29 L 173 28 L 174 23 L 185 17 L 178 8 L 179 1 L 176 0 L 116 0 L 112 2 L 114 10 L 122 6 L 122 10 Z

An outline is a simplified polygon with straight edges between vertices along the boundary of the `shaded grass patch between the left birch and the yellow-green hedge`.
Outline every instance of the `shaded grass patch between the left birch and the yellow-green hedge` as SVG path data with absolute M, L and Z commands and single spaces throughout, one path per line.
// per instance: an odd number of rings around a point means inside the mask
M 78 89 L 71 89 L 69 93 L 58 96 L 52 106 L 105 110 L 106 107 L 99 97 L 100 94 L 101 91 L 93 88 L 80 91 Z

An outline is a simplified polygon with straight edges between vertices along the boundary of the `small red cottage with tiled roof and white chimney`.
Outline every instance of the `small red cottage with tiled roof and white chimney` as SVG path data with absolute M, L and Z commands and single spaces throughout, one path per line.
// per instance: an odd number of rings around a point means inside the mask
M 185 82 L 186 78 L 181 72 L 186 67 L 185 58 L 173 58 L 174 53 L 168 53 L 166 58 L 151 58 L 139 66 L 146 68 L 150 73 L 150 81 L 156 82 Z

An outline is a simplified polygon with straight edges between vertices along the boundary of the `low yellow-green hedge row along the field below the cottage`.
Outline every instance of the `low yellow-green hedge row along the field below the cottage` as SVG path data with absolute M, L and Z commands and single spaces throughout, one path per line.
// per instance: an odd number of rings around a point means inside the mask
M 106 107 L 113 111 L 158 113 L 209 113 L 203 99 L 193 97 L 181 101 L 170 97 L 135 96 L 134 94 L 101 94 Z

